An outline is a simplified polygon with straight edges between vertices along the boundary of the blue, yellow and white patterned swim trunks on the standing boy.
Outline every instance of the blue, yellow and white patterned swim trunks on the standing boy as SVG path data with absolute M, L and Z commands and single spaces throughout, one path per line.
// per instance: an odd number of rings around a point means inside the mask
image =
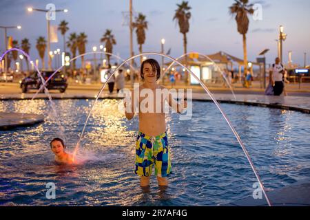
M 152 175 L 155 164 L 155 175 L 167 177 L 172 173 L 167 133 L 156 137 L 138 132 L 136 137 L 136 169 L 134 173 L 142 177 Z

